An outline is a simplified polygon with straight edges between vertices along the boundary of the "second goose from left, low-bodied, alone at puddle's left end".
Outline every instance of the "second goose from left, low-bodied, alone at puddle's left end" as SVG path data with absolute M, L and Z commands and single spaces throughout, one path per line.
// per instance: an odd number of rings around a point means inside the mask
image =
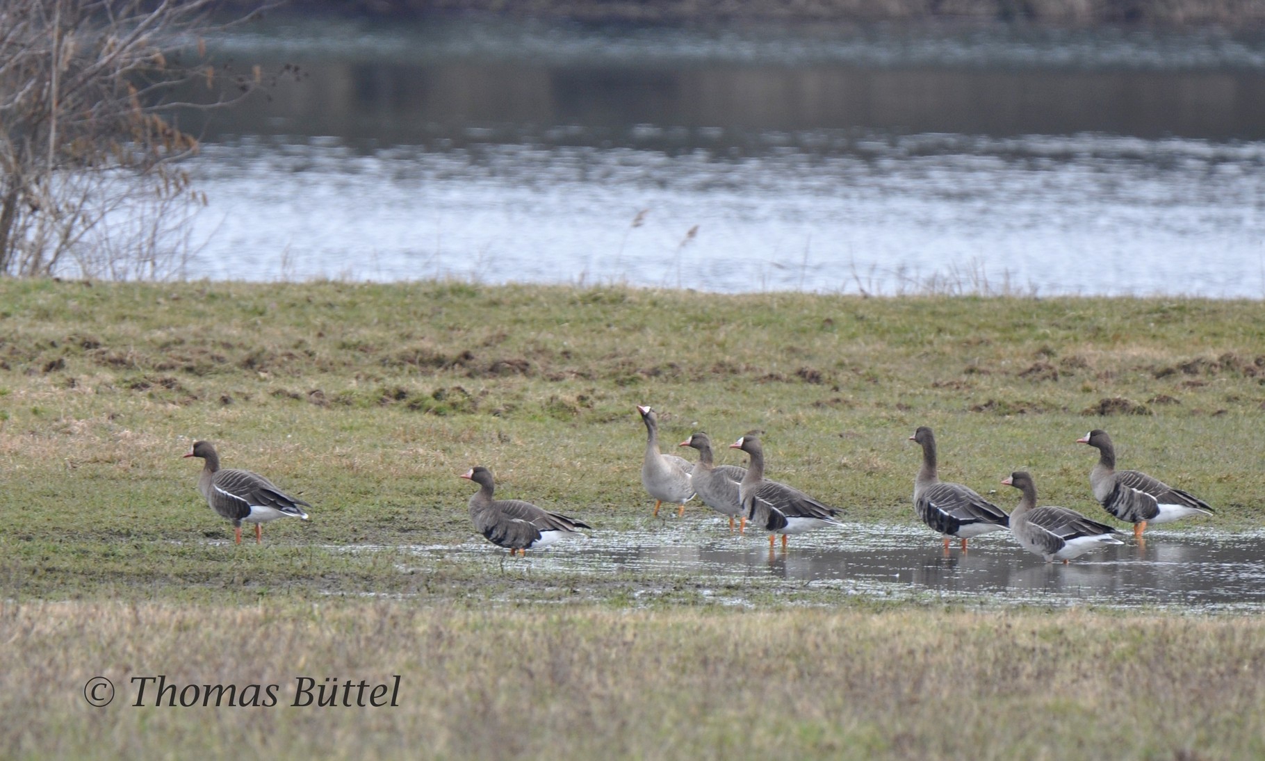
M 592 528 L 576 518 L 552 513 L 521 499 L 492 499 L 496 483 L 492 472 L 476 465 L 460 475 L 479 485 L 471 497 L 471 521 L 487 541 L 526 556 L 528 550 L 543 550 L 578 528 Z M 583 536 L 581 533 L 581 536 Z

